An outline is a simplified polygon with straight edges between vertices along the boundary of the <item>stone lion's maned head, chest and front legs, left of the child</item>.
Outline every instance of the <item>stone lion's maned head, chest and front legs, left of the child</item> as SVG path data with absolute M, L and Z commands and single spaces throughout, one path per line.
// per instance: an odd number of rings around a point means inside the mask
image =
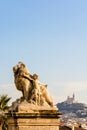
M 28 101 L 33 89 L 31 74 L 29 73 L 25 64 L 22 62 L 19 62 L 16 66 L 13 67 L 13 72 L 16 88 L 22 91 L 23 99 Z

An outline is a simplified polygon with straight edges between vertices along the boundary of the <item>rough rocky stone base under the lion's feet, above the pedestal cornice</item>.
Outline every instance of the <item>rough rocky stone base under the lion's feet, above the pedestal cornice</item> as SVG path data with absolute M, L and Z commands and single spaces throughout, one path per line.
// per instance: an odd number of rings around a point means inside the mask
M 50 107 L 49 105 L 44 105 L 44 106 L 39 106 L 33 103 L 28 103 L 27 101 L 15 101 L 14 103 L 12 103 L 11 108 L 9 109 L 9 111 L 13 112 L 34 112 L 34 111 L 39 111 L 39 110 L 58 110 L 58 108 L 56 106 Z

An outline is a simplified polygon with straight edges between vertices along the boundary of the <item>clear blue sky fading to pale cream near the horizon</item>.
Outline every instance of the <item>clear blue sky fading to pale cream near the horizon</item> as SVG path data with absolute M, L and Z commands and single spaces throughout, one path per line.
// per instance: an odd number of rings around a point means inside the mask
M 24 62 L 55 102 L 87 103 L 87 0 L 0 1 L 0 94 L 15 100 L 12 67 Z

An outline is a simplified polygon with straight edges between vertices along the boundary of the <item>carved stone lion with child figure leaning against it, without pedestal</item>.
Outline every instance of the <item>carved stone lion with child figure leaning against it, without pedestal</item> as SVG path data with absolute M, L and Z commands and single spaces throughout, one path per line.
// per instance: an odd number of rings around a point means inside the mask
M 18 62 L 13 67 L 13 72 L 16 88 L 22 91 L 23 95 L 13 105 L 18 106 L 25 101 L 36 106 L 53 107 L 53 100 L 47 91 L 47 85 L 39 81 L 37 74 L 31 75 L 23 62 Z

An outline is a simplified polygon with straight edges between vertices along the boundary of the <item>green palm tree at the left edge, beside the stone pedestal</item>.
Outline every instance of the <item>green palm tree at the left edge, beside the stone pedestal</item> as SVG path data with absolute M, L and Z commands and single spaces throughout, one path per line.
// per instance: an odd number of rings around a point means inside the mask
M 0 95 L 0 110 L 3 112 L 8 112 L 9 109 L 9 105 L 8 102 L 10 101 L 10 97 L 8 97 L 7 95 Z M 7 117 L 4 116 L 3 117 L 3 126 L 2 126 L 3 130 L 7 130 Z

